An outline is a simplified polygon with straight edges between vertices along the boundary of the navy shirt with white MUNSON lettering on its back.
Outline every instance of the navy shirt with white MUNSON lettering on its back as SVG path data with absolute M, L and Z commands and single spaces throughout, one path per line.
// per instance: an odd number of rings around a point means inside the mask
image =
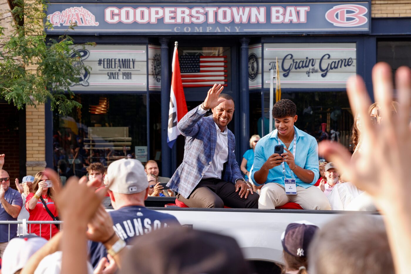
M 136 236 L 150 233 L 152 230 L 166 228 L 170 225 L 180 225 L 177 219 L 166 213 L 149 210 L 146 207 L 133 205 L 121 207 L 109 212 L 113 219 L 115 233 L 127 244 Z M 90 262 L 96 267 L 101 258 L 107 256 L 107 250 L 100 242 L 91 242 L 89 245 Z

